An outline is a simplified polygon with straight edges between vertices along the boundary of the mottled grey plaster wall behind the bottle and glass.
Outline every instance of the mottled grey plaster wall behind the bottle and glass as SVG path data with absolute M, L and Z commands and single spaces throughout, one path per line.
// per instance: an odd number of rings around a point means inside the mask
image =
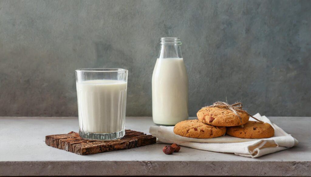
M 181 37 L 189 113 L 217 100 L 311 116 L 311 1 L 0 1 L 0 116 L 77 116 L 74 70 L 129 70 L 151 116 L 160 37 Z

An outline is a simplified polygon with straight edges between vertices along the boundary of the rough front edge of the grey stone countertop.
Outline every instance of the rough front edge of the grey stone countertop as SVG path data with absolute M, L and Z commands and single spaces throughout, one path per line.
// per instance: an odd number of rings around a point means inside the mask
M 0 162 L 0 175 L 310 176 L 310 166 L 311 162 L 29 161 Z

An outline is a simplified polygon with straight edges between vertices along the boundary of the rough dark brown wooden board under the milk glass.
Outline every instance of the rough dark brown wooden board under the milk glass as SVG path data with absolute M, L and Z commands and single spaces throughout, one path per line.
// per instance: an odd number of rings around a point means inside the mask
M 78 133 L 73 131 L 68 134 L 45 136 L 45 144 L 79 155 L 137 148 L 155 143 L 156 137 L 132 130 L 125 130 L 122 139 L 111 141 L 82 139 Z

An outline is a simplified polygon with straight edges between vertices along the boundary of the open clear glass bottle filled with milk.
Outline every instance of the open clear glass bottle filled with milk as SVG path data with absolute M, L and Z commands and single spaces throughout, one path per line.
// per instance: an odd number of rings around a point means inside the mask
M 160 38 L 160 52 L 152 74 L 152 117 L 160 125 L 188 119 L 188 75 L 180 38 Z

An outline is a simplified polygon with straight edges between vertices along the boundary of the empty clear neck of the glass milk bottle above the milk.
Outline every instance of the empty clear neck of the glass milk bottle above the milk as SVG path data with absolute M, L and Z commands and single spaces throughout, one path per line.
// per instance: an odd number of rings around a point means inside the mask
M 180 38 L 160 38 L 161 48 L 158 58 L 183 58 Z

